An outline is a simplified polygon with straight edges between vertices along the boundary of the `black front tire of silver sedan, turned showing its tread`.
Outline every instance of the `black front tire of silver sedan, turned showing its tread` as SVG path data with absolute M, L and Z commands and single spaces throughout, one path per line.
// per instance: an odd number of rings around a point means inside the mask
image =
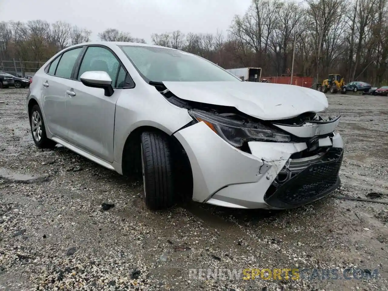
M 143 132 L 140 146 L 145 205 L 150 210 L 173 206 L 173 161 L 168 136 L 158 132 Z

